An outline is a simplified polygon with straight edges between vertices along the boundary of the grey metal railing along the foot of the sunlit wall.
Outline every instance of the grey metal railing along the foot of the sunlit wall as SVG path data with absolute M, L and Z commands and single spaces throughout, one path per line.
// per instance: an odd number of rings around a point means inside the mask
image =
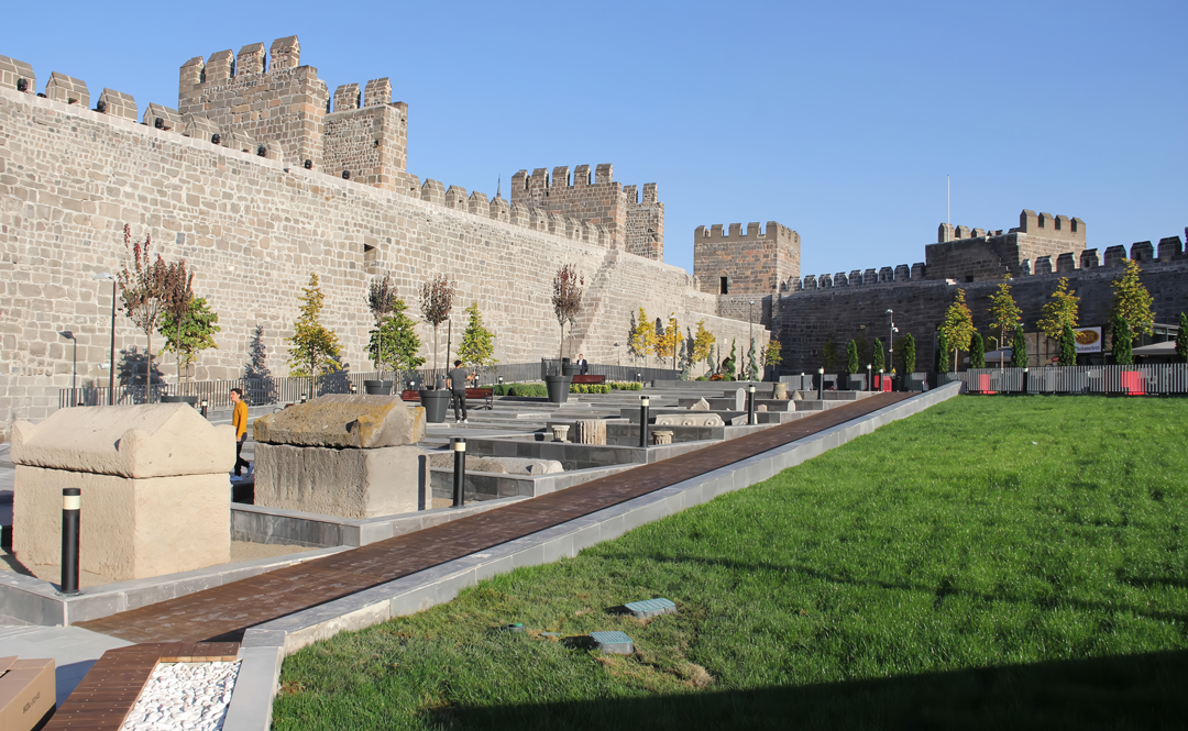
M 556 363 L 556 358 L 552 358 Z M 505 383 L 529 382 L 542 380 L 542 373 L 546 368 L 544 363 L 507 363 L 479 369 L 476 386 L 489 386 L 503 379 Z M 602 366 L 590 363 L 588 373 L 604 375 L 607 381 L 645 381 L 672 380 L 676 375 L 671 370 L 662 368 L 636 368 L 631 366 Z M 432 383 L 434 377 L 444 381 L 447 369 L 422 368 L 415 371 L 384 374 L 384 380 L 394 380 L 398 390 L 405 388 L 421 388 L 425 383 Z M 364 393 L 364 381 L 379 379 L 377 371 L 364 373 L 336 373 L 322 376 L 317 380 L 317 395 L 350 393 L 354 386 L 356 393 Z M 295 403 L 302 399 L 309 399 L 312 392 L 310 379 L 278 376 L 271 379 L 230 379 L 225 381 L 183 381 L 178 383 L 153 383 L 152 401 L 160 401 L 162 396 L 195 396 L 201 403 L 207 402 L 211 409 L 230 408 L 230 389 L 244 389 L 244 400 L 255 406 L 266 403 Z M 62 388 L 58 390 L 58 408 L 71 406 L 106 406 L 108 403 L 108 388 L 106 386 L 94 386 L 83 388 Z M 115 403 L 148 403 L 148 387 L 116 386 Z

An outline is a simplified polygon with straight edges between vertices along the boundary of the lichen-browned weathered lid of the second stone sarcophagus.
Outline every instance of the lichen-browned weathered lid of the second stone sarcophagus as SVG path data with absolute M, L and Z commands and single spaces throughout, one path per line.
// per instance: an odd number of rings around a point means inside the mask
M 377 449 L 416 444 L 425 436 L 425 411 L 399 396 L 329 394 L 255 420 L 264 444 Z

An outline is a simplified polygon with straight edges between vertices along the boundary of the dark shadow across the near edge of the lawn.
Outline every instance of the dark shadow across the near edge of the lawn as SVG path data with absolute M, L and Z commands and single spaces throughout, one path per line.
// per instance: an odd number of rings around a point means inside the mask
M 431 720 L 447 729 L 1183 729 L 1186 687 L 1188 650 L 1177 650 L 805 687 L 450 706 Z

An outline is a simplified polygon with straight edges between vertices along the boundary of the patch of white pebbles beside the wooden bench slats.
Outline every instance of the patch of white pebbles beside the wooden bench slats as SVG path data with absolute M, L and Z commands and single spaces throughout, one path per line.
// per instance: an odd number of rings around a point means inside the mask
M 238 674 L 238 660 L 158 663 L 122 731 L 217 731 Z

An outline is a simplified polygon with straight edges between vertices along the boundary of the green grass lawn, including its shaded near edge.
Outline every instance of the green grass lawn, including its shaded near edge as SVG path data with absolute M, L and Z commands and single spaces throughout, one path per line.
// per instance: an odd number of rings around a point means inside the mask
M 953 399 L 307 648 L 274 726 L 1184 727 L 1186 438 L 1188 400 Z M 604 629 L 637 654 L 539 635 Z

